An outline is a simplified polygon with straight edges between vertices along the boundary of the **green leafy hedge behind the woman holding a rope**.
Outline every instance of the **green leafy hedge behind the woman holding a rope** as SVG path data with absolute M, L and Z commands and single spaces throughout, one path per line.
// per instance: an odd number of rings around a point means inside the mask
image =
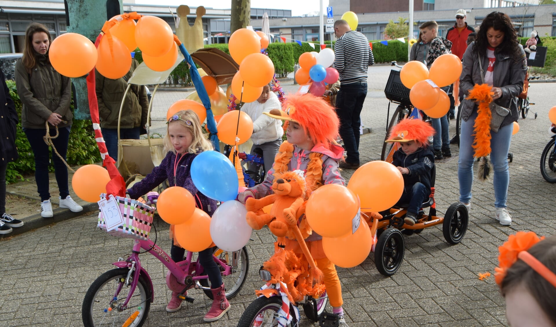
M 34 172 L 34 155 L 31 145 L 29 145 L 29 141 L 21 128 L 21 100 L 17 94 L 16 83 L 14 81 L 6 81 L 6 83 L 8 84 L 9 94 L 12 96 L 13 102 L 16 103 L 19 117 L 16 135 L 19 159 L 8 163 L 8 169 L 6 170 L 6 182 L 13 183 L 24 180 L 24 175 Z M 73 110 L 73 101 L 71 109 Z M 100 162 L 101 160 L 91 120 L 73 119 L 71 133 L 69 133 L 67 163 L 69 165 L 84 165 Z M 51 171 L 54 170 L 53 165 L 50 165 L 49 168 Z

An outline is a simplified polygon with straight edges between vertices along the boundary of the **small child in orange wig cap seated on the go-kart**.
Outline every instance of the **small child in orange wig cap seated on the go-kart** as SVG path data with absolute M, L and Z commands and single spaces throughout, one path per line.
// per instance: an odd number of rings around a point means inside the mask
M 385 142 L 399 142 L 392 164 L 404 177 L 404 193 L 399 203 L 408 203 L 404 222 L 413 226 L 423 202 L 430 196 L 434 153 L 429 147 L 429 137 L 434 128 L 420 119 L 403 119 L 395 125 Z

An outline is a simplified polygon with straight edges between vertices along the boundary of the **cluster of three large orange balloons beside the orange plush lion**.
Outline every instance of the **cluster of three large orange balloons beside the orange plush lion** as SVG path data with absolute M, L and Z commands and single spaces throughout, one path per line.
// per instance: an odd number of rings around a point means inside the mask
M 307 223 L 322 235 L 322 248 L 335 265 L 350 268 L 362 263 L 373 238 L 361 212 L 391 208 L 401 197 L 404 179 L 394 165 L 373 161 L 355 171 L 347 187 L 327 184 L 311 193 Z

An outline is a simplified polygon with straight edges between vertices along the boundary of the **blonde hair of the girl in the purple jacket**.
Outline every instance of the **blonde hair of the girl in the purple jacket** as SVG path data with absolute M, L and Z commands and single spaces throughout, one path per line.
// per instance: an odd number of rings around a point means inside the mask
M 173 116 L 175 115 L 180 117 L 180 119 L 167 122 L 168 127 L 166 128 L 166 136 L 163 140 L 166 151 L 176 153 L 176 150 L 173 148 L 172 141 L 170 140 L 170 132 L 168 130 L 168 128 L 170 128 L 170 124 L 181 124 L 191 133 L 193 139 L 191 140 L 189 148 L 187 148 L 188 153 L 214 150 L 214 147 L 212 147 L 212 143 L 205 137 L 205 135 L 203 135 L 199 117 L 193 110 L 181 110 Z M 187 124 L 187 120 L 191 122 L 191 125 Z

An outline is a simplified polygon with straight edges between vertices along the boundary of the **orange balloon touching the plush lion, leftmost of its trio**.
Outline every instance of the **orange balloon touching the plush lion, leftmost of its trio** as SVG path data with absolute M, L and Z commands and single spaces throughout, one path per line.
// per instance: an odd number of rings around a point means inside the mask
M 341 205 L 330 205 L 341 203 Z M 307 223 L 323 237 L 351 234 L 351 224 L 360 217 L 359 199 L 345 186 L 326 184 L 311 193 L 305 208 Z

